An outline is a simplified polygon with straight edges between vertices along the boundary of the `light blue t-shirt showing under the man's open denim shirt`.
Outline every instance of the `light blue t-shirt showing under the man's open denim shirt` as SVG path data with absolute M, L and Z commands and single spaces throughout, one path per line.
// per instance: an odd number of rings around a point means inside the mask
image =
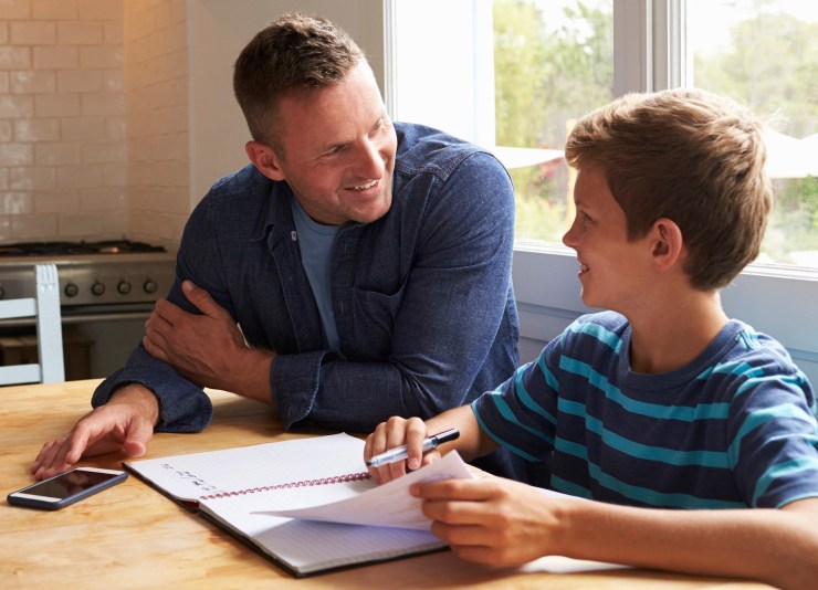
M 329 292 L 329 261 L 338 225 L 322 225 L 313 221 L 295 198 L 290 200 L 293 211 L 293 221 L 297 233 L 301 263 L 306 272 L 310 286 L 313 289 L 315 303 L 318 305 L 321 324 L 324 327 L 329 348 L 340 354 L 338 329 L 335 326 L 333 297 Z

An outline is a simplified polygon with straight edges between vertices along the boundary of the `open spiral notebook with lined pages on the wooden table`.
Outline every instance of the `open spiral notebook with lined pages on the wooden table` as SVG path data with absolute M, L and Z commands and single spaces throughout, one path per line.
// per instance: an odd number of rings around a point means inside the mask
M 295 577 L 444 548 L 409 486 L 472 477 L 460 456 L 379 486 L 363 455 L 364 441 L 333 434 L 123 465 Z

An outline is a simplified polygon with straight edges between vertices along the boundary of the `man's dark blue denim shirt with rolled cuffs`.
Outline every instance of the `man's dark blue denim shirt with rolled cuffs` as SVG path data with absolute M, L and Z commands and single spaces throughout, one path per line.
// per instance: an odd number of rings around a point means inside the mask
M 206 288 L 253 347 L 274 350 L 271 394 L 285 428 L 370 431 L 390 415 L 432 417 L 473 400 L 517 367 L 511 282 L 514 193 L 503 166 L 440 131 L 396 124 L 389 211 L 344 226 L 332 253 L 343 355 L 325 341 L 301 264 L 286 182 L 252 165 L 219 180 L 187 223 L 168 299 Z M 157 431 L 208 425 L 207 394 L 139 346 L 95 391 L 141 383 Z

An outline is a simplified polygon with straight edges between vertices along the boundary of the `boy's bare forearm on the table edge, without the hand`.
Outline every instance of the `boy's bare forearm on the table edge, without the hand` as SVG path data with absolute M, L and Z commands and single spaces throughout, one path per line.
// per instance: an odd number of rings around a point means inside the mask
M 782 588 L 818 580 L 818 498 L 782 509 L 664 510 L 576 503 L 566 555 Z

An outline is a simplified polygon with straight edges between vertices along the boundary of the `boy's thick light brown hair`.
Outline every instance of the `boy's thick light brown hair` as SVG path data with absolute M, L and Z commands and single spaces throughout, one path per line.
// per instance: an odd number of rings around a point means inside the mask
M 763 124 L 700 89 L 629 94 L 583 117 L 566 159 L 605 172 L 628 239 L 668 218 L 681 229 L 684 271 L 702 291 L 726 286 L 761 249 L 773 187 Z

